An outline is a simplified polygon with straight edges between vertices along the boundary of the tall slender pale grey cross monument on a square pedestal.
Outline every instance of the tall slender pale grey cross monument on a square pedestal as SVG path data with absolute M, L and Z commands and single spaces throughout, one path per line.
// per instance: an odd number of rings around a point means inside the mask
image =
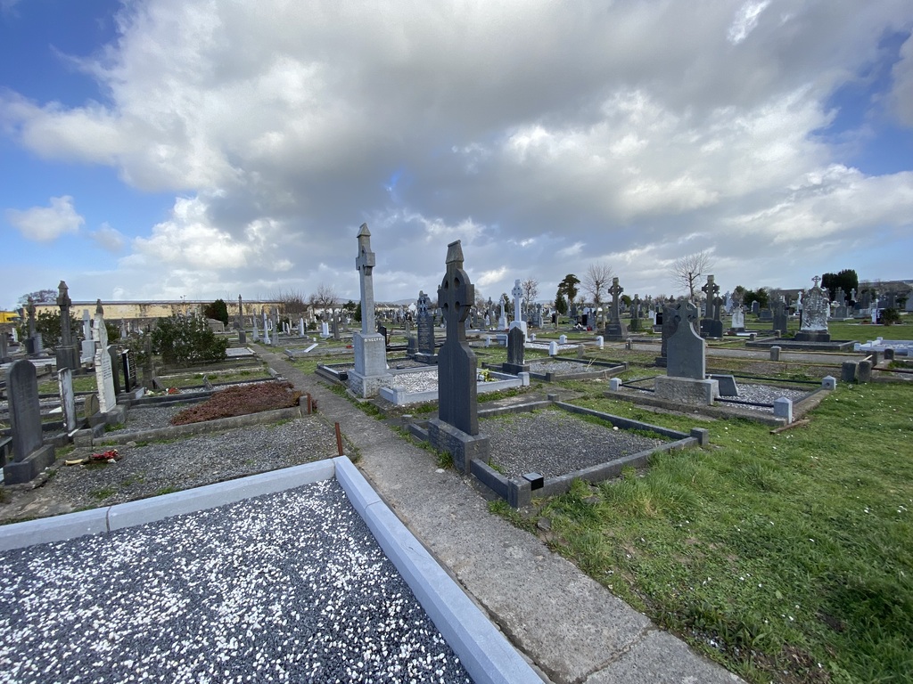
M 373 270 L 377 260 L 371 250 L 371 232 L 362 223 L 358 231 L 358 271 L 362 291 L 362 330 L 352 335 L 355 368 L 349 372 L 349 389 L 362 399 L 377 396 L 381 386 L 389 379 L 387 373 L 387 340 L 375 329 Z

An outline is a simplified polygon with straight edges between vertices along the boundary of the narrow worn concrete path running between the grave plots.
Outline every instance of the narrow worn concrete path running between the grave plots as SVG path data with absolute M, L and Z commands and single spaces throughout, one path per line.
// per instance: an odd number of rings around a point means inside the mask
M 317 399 L 358 450 L 359 470 L 515 648 L 556 684 L 740 682 L 498 515 L 467 478 L 280 354 L 261 358 Z

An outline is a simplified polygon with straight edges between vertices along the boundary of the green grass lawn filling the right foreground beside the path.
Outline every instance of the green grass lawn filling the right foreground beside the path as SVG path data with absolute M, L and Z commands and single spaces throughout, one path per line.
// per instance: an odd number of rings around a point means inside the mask
M 611 399 L 576 403 L 696 424 Z M 752 682 L 908 681 L 908 407 L 905 387 L 841 385 L 809 425 L 779 434 L 701 421 L 707 449 L 659 454 L 599 486 L 576 482 L 528 519 L 548 519 L 553 549 Z

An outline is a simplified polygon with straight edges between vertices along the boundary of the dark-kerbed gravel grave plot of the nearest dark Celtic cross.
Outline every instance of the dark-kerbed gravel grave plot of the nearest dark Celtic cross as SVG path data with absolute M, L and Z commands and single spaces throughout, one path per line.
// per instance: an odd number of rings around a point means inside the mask
M 618 477 L 625 466 L 645 467 L 658 451 L 706 440 L 703 430 L 687 435 L 561 402 L 480 410 L 479 418 L 490 456 L 488 462 L 472 461 L 471 472 L 514 507 L 532 496 L 567 492 L 577 479 Z

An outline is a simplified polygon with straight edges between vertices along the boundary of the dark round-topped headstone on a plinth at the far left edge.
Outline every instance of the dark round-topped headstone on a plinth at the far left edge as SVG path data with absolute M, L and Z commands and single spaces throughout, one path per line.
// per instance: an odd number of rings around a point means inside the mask
M 31 482 L 54 462 L 54 446 L 43 441 L 38 378 L 31 361 L 20 359 L 10 364 L 6 371 L 6 396 L 13 460 L 4 466 L 4 482 Z

